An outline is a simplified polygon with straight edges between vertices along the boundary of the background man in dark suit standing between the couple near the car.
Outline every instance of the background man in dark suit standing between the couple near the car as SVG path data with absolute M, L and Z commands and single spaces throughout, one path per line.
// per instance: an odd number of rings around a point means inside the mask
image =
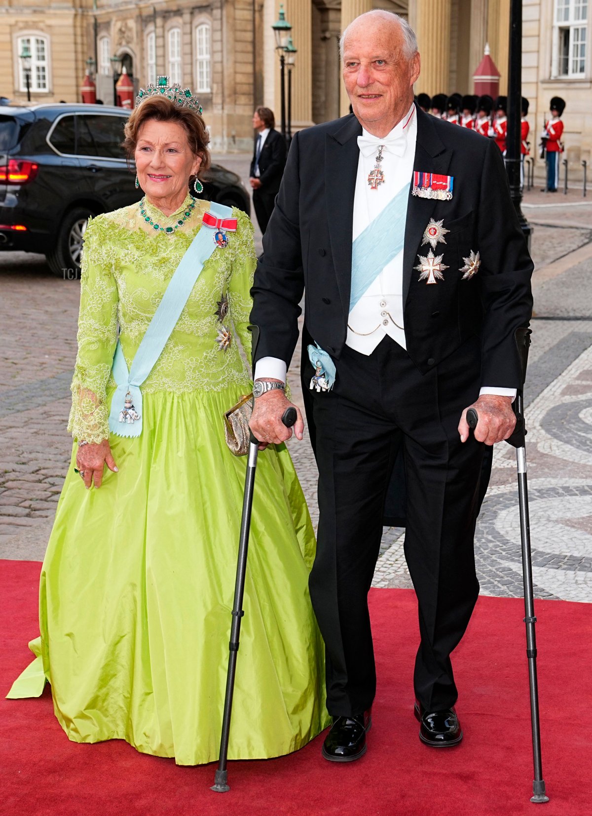
M 255 213 L 265 234 L 284 174 L 287 149 L 284 137 L 274 130 L 276 120 L 272 110 L 259 107 L 253 114 L 253 126 L 258 135 L 249 175 Z

